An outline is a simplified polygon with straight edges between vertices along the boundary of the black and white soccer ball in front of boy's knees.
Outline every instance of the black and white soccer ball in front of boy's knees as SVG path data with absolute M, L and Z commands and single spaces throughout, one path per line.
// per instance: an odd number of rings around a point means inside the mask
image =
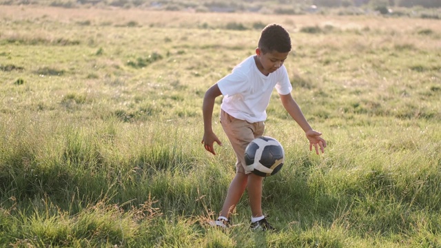
M 282 169 L 285 151 L 276 139 L 262 136 L 255 138 L 245 148 L 247 169 L 258 176 L 272 176 Z

